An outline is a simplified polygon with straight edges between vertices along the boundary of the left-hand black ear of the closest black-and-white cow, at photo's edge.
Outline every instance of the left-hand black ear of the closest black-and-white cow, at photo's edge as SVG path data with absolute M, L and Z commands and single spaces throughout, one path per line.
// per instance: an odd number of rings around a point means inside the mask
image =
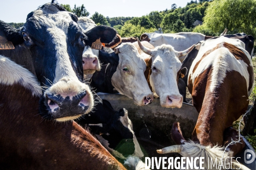
M 13 45 L 19 45 L 24 42 L 20 29 L 16 29 L 0 20 L 0 37 L 2 40 L 10 41 Z

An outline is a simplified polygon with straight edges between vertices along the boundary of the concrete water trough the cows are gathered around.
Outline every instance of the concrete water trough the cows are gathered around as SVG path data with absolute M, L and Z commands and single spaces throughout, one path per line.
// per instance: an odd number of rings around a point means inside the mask
M 174 145 L 171 139 L 171 129 L 174 122 L 180 122 L 180 127 L 185 139 L 190 139 L 198 119 L 198 112 L 193 105 L 183 103 L 181 108 L 163 108 L 159 99 L 154 99 L 150 105 L 134 105 L 132 99 L 120 94 L 98 93 L 101 99 L 108 100 L 115 110 L 125 108 L 128 117 L 133 123 L 135 135 L 140 143 L 145 157 L 176 157 L 177 153 L 158 154 L 157 149 Z M 236 157 L 242 164 L 250 169 L 256 169 L 256 159 L 250 164 L 244 162 L 245 150 L 252 150 L 252 146 L 246 142 L 244 150 Z M 161 168 L 160 168 L 161 169 Z

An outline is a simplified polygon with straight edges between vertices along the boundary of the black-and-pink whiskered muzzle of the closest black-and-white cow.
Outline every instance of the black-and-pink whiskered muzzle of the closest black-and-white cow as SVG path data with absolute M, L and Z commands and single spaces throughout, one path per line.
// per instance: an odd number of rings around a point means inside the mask
M 40 104 L 44 118 L 63 122 L 89 113 L 94 103 L 87 85 L 79 81 L 61 81 L 45 91 Z

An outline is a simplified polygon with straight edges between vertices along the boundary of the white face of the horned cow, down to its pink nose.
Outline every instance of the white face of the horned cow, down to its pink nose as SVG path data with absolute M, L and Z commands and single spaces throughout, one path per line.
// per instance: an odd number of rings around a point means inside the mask
M 177 86 L 177 73 L 182 65 L 177 56 L 171 45 L 163 44 L 151 50 L 150 85 L 154 96 L 160 97 L 160 105 L 167 108 L 180 108 L 183 101 Z

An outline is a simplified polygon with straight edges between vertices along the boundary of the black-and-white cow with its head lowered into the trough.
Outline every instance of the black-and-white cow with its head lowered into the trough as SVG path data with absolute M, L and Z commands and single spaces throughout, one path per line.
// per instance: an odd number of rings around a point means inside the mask
M 76 122 L 89 127 L 101 144 L 116 159 L 123 161 L 129 155 L 143 158 L 144 154 L 133 131 L 133 125 L 125 108 L 115 111 L 111 104 L 97 98 L 93 112 L 81 116 Z

